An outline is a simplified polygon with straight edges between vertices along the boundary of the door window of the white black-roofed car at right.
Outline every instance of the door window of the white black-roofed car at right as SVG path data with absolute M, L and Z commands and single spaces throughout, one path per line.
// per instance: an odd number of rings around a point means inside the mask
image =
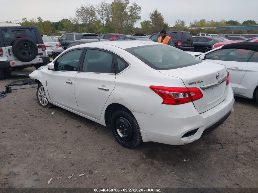
M 223 60 L 223 61 L 234 61 L 234 62 L 247 62 L 252 56 L 254 51 L 244 49 L 221 49 L 214 52 L 210 52 L 205 56 L 206 59 L 210 60 Z

